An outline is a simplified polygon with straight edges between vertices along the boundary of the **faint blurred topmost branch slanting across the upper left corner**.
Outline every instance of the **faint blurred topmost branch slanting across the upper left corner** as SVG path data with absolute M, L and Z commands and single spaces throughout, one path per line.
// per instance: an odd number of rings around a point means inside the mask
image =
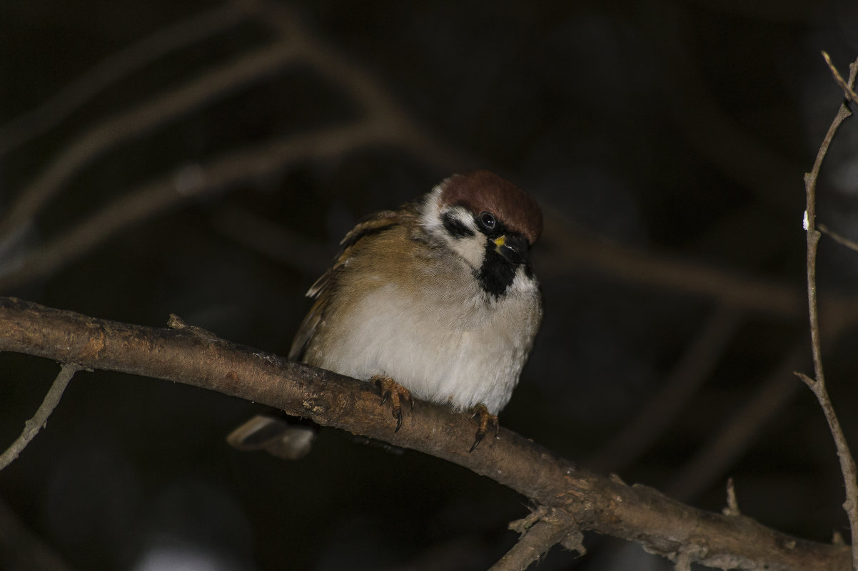
M 172 51 L 195 44 L 233 26 L 242 12 L 227 3 L 163 27 L 122 51 L 107 57 L 72 81 L 33 111 L 27 111 L 0 127 L 0 155 L 31 141 L 57 126 L 64 118 L 138 69 Z

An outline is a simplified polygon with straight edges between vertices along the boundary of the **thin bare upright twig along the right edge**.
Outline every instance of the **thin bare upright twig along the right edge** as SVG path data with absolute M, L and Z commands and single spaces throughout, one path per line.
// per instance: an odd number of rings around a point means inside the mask
M 829 67 L 834 72 L 835 79 L 839 78 L 837 83 L 843 83 L 843 78 L 837 74 L 837 70 L 831 65 L 831 58 L 825 52 L 823 52 L 823 55 L 825 56 L 825 62 L 829 64 Z M 852 92 L 852 86 L 855 85 L 856 74 L 858 74 L 858 59 L 849 66 L 849 81 L 844 87 L 850 98 L 855 95 Z M 828 128 L 828 132 L 825 133 L 825 138 L 819 146 L 819 152 L 813 161 L 813 168 L 805 175 L 805 194 L 807 196 L 807 210 L 805 210 L 805 230 L 807 231 L 807 304 L 810 317 L 811 349 L 813 352 L 813 379 L 803 373 L 796 373 L 796 375 L 811 388 L 813 394 L 819 400 L 819 406 L 822 407 L 825 420 L 828 422 L 829 429 L 831 429 L 831 436 L 834 437 L 834 445 L 837 448 L 837 458 L 840 460 L 840 470 L 843 473 L 843 484 L 846 489 L 846 501 L 843 502 L 843 509 L 846 510 L 846 514 L 849 517 L 849 528 L 852 532 L 852 568 L 858 571 L 858 477 L 856 477 L 855 459 L 849 451 L 849 442 L 846 442 L 843 429 L 837 420 L 837 414 L 834 412 L 834 406 L 831 405 L 828 390 L 825 388 L 816 285 L 816 255 L 820 237 L 820 233 L 816 229 L 816 183 L 822 163 L 825 160 L 825 155 L 831 146 L 831 141 L 834 139 L 834 135 L 837 133 L 840 124 L 850 115 L 852 115 L 852 111 L 849 111 L 849 106 L 846 103 L 840 105 L 837 115 L 831 122 L 831 127 Z

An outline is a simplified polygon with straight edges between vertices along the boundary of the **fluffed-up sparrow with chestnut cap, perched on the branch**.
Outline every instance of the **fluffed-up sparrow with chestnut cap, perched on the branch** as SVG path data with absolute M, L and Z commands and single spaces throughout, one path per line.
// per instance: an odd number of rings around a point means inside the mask
M 511 399 L 542 319 L 530 249 L 542 231 L 532 196 L 492 171 L 445 178 L 395 210 L 361 219 L 314 299 L 288 357 L 373 382 L 395 430 L 414 399 L 479 417 L 474 448 Z M 227 441 L 297 459 L 313 430 L 262 414 Z

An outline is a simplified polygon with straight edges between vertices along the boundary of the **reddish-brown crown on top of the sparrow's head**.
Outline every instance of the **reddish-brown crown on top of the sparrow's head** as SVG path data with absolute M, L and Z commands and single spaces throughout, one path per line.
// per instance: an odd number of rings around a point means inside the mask
M 536 201 L 515 184 L 491 171 L 457 174 L 444 181 L 444 204 L 490 212 L 512 231 L 521 232 L 533 244 L 542 233 L 542 212 Z

